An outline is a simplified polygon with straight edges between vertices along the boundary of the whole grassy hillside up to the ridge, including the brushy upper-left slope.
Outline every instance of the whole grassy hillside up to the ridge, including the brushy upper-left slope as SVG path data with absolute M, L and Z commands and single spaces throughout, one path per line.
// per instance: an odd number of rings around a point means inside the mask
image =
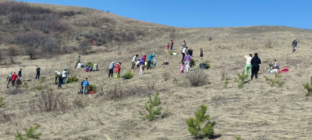
M 10 23 L 4 13 L 0 14 L 0 49 L 3 55 L 0 96 L 4 98 L 0 113 L 0 139 L 14 139 L 17 130 L 24 134 L 24 127 L 36 124 L 41 125 L 37 132 L 42 133 L 40 138 L 43 140 L 197 139 L 188 132 L 186 119 L 194 117 L 200 105 L 208 106 L 207 114 L 217 123 L 214 132 L 221 136 L 216 139 L 231 140 L 235 135 L 244 140 L 308 140 L 312 137 L 312 97 L 305 96 L 302 87 L 302 83 L 309 82 L 312 76 L 312 30 L 286 26 L 180 28 L 85 7 L 38 3 L 28 3 L 28 6 L 49 9 L 48 13 L 37 14 L 40 17 L 57 17 L 57 20 L 51 18 L 55 22 L 50 22 L 46 21 L 50 18 L 38 18 L 40 20 L 32 22 Z M 69 11 L 74 11 L 74 17 L 68 16 Z M 49 22 L 60 26 L 51 26 L 47 24 Z M 46 26 L 39 28 L 35 25 Z M 25 26 L 29 28 L 26 30 Z M 55 44 L 60 42 L 60 52 L 53 49 L 49 54 L 41 49 L 44 44 L 38 44 L 34 59 L 23 54 L 25 44 L 19 42 L 17 36 L 32 31 L 43 36 L 42 40 L 51 39 Z M 299 43 L 296 53 L 292 54 L 294 38 Z M 174 52 L 179 51 L 183 40 L 192 47 L 193 59 L 197 62 L 191 71 L 179 75 L 179 56 L 164 51 L 171 39 Z M 100 44 L 92 44 L 90 49 L 82 52 L 79 46 L 85 40 L 96 40 Z M 272 48 L 266 47 L 268 40 L 273 43 Z M 10 62 L 8 54 L 12 47 L 17 50 L 17 54 L 11 56 L 14 63 Z M 200 48 L 204 51 L 203 60 L 199 58 Z M 120 56 L 117 54 L 119 51 Z M 110 62 L 116 60 L 121 63 L 120 75 L 123 76 L 131 69 L 131 59 L 135 54 L 141 57 L 153 52 L 158 63 L 151 70 L 145 69 L 143 75 L 139 75 L 138 70 L 131 70 L 134 74 L 131 79 L 108 78 Z M 256 52 L 262 61 L 259 78 L 240 89 L 234 77 L 245 68 L 244 56 Z M 74 69 L 78 55 L 83 63 L 97 63 L 99 71 Z M 272 59 L 277 59 L 280 68 L 289 68 L 288 72 L 282 73 L 281 81 L 285 84 L 281 87 L 271 87 L 264 78 L 275 77 L 274 74 L 266 74 L 267 62 Z M 208 82 L 198 87 L 190 86 L 186 76 L 207 60 L 211 66 L 204 70 Z M 169 65 L 161 66 L 163 62 Z M 43 80 L 34 80 L 36 65 L 42 69 L 40 77 L 45 77 L 41 78 Z M 13 92 L 14 87 L 6 88 L 6 77 L 20 68 L 22 83 L 26 82 L 27 87 L 20 86 L 17 92 Z M 71 69 L 71 74 L 76 75 L 79 81 L 62 85 L 63 90 L 60 90 L 54 85 L 53 72 L 64 68 Z M 220 70 L 228 75 L 230 83 L 227 88 L 223 88 Z M 164 72 L 171 75 L 168 81 L 163 79 Z M 99 86 L 95 95 L 77 94 L 85 77 L 90 84 Z M 49 91 L 60 98 L 67 98 L 62 103 L 65 107 L 55 111 L 39 110 L 37 105 L 40 103 L 36 101 L 42 92 L 36 91 L 36 86 L 41 86 L 44 94 Z M 154 90 L 146 87 L 154 87 Z M 148 95 L 154 95 L 156 91 L 159 92 L 164 117 L 144 120 L 139 111 L 144 111 Z M 79 102 L 81 100 L 82 103 Z M 73 102 L 80 104 L 66 107 Z

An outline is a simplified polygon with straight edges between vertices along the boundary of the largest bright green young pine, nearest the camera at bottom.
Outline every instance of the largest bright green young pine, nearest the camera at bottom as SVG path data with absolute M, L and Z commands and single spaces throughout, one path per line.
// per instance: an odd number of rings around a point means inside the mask
M 192 136 L 198 138 L 206 138 L 210 137 L 214 134 L 213 126 L 216 125 L 216 122 L 209 121 L 209 114 L 206 114 L 207 106 L 201 105 L 200 108 L 195 112 L 195 118 L 189 118 L 186 120 L 186 124 L 188 125 L 188 132 L 191 133 Z M 202 124 L 204 126 L 202 127 Z

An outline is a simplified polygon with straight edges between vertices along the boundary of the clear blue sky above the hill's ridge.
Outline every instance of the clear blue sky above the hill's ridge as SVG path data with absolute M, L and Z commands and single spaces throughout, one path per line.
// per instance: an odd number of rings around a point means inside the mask
M 27 0 L 90 7 L 178 27 L 284 25 L 312 29 L 312 0 Z

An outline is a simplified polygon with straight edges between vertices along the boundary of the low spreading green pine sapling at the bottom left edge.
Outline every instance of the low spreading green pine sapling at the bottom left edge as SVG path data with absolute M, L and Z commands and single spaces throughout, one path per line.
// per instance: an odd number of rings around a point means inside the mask
M 37 124 L 35 127 L 30 126 L 29 129 L 24 128 L 26 136 L 23 137 L 22 136 L 22 132 L 16 131 L 16 135 L 15 135 L 15 140 L 29 140 L 30 138 L 32 139 L 40 139 L 39 136 L 41 136 L 41 132 L 40 133 L 36 133 L 35 131 L 40 127 L 39 124 Z

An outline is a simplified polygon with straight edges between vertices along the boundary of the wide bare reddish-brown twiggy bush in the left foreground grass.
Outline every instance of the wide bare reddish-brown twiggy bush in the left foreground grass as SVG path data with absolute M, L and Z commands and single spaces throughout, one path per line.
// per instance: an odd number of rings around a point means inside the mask
M 42 88 L 41 93 L 29 100 L 31 112 L 51 112 L 70 109 L 67 96 L 54 94 L 50 88 Z

